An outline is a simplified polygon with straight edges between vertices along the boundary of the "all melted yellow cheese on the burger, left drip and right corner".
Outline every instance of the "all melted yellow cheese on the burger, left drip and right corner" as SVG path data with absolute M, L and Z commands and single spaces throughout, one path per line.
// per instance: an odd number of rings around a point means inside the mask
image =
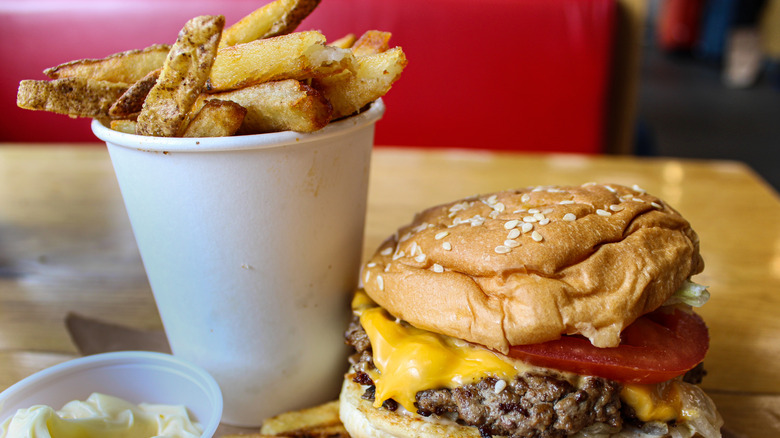
M 456 388 L 490 376 L 510 381 L 518 373 L 537 369 L 465 341 L 400 323 L 365 292 L 355 294 L 352 308 L 371 340 L 374 365 L 379 370 L 370 373 L 376 385 L 375 407 L 393 399 L 416 412 L 414 401 L 419 391 Z M 679 384 L 674 380 L 658 385 L 626 384 L 620 398 L 645 422 L 687 418 Z

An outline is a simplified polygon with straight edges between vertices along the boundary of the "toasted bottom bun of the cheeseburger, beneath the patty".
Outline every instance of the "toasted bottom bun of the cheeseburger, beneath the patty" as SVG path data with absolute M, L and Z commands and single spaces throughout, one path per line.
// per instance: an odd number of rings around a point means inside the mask
M 352 381 L 354 374 L 347 374 L 339 395 L 339 417 L 352 438 L 481 438 L 479 430 L 472 426 L 463 426 L 451 420 L 423 417 L 409 413 L 402 407 L 397 411 L 375 408 L 373 403 L 362 398 L 365 388 Z M 695 401 L 697 410 L 705 414 L 697 420 L 700 431 L 676 430 L 670 433 L 648 434 L 635 428 L 624 428 L 616 432 L 603 424 L 595 424 L 570 438 L 686 438 L 720 437 L 723 420 L 709 397 L 697 386 L 688 385 L 693 390 L 689 395 Z M 494 438 L 501 438 L 495 436 Z

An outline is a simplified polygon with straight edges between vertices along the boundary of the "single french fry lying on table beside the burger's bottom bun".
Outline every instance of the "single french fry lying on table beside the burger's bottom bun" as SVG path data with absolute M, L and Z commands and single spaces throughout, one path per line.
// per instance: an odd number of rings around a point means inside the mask
M 300 411 L 285 412 L 263 422 L 256 433 L 222 435 L 221 438 L 349 438 L 339 419 L 338 400 Z

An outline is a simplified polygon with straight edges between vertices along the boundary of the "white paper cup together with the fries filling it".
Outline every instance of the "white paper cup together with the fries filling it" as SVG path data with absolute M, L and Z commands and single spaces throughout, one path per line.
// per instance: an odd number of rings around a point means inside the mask
M 72 61 L 18 106 L 92 118 L 173 353 L 209 371 L 223 422 L 333 399 L 357 285 L 374 126 L 406 66 L 390 34 L 328 42 L 276 0 L 223 30 Z

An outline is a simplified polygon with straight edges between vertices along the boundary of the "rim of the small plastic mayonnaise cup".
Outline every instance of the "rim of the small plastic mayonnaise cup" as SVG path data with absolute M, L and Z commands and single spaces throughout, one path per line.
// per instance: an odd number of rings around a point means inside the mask
M 186 379 L 197 385 L 207 395 L 211 404 L 211 418 L 208 422 L 201 423 L 203 434 L 201 438 L 209 438 L 216 433 L 222 419 L 223 398 L 222 391 L 214 377 L 203 368 L 177 358 L 170 354 L 151 351 L 116 351 L 108 353 L 83 356 L 52 365 L 24 379 L 0 392 L 0 409 L 9 400 L 19 396 L 26 396 L 28 392 L 37 393 L 41 387 L 49 386 L 62 379 L 67 379 L 74 374 L 88 373 L 90 370 L 104 367 L 144 366 L 147 368 L 162 368 L 166 372 L 177 373 L 186 376 Z M 5 418 L 0 418 L 0 421 Z M 200 419 L 199 419 L 200 420 Z

